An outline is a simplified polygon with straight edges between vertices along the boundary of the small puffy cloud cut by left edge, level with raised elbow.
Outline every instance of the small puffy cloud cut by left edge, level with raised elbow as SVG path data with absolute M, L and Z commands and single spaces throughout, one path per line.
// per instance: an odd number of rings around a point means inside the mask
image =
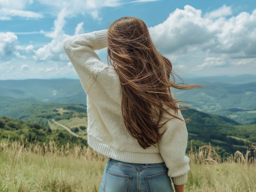
M 17 51 L 17 39 L 12 32 L 0 32 L 0 58 L 5 59 Z

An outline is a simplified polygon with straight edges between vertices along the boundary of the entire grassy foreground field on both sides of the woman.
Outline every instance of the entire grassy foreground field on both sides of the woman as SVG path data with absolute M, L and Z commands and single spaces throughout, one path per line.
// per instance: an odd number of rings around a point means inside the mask
M 186 154 L 190 170 L 185 192 L 256 192 L 256 158 L 236 152 L 221 162 L 203 146 Z M 254 153 L 255 154 L 255 153 Z M 13 161 L 14 160 L 14 161 Z M 65 144 L 0 142 L 1 192 L 98 192 L 108 157 Z M 174 186 L 173 186 L 174 187 Z

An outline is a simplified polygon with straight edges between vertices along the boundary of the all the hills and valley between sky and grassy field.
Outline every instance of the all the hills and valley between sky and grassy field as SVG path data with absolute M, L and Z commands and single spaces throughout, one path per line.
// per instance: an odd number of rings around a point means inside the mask
M 191 107 L 181 111 L 184 118 L 191 119 L 186 124 L 187 149 L 210 142 L 222 158 L 236 150 L 245 153 L 249 144 L 256 142 L 256 76 L 183 80 L 186 84 L 207 86 L 172 89 L 176 99 Z M 58 147 L 64 141 L 85 144 L 87 125 L 86 93 L 79 79 L 0 81 L 0 139 L 29 137 L 41 143 L 54 139 Z

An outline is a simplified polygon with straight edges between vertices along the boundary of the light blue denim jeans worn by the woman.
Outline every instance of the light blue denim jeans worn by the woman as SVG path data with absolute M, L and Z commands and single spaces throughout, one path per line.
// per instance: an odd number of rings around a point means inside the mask
M 131 164 L 108 158 L 99 192 L 174 192 L 165 163 Z

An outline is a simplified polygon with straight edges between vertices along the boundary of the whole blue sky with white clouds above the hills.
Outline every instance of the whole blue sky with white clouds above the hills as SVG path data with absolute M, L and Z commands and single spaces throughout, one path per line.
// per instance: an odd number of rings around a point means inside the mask
M 78 79 L 63 40 L 127 16 L 179 75 L 256 74 L 255 0 L 0 0 L 0 79 Z

